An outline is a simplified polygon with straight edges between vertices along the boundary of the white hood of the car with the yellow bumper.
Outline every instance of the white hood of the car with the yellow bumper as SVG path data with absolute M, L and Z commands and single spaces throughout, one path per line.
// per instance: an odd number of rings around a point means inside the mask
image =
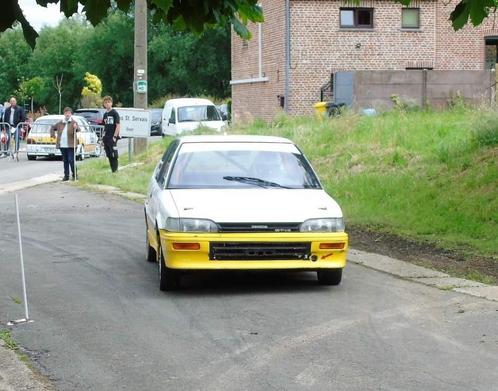
M 178 189 L 170 192 L 179 217 L 215 222 L 302 222 L 342 217 L 339 205 L 319 189 Z

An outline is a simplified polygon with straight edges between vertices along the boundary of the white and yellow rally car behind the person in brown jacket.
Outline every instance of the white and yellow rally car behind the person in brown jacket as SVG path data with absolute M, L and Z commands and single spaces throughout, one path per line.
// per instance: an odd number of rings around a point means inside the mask
M 61 151 L 55 147 L 56 137 L 50 136 L 50 129 L 63 119 L 63 115 L 45 115 L 39 117 L 33 123 L 26 139 L 28 160 L 35 160 L 37 156 L 61 156 Z M 77 132 L 76 158 L 84 159 L 89 156 L 100 156 L 101 147 L 98 143 L 98 137 L 88 121 L 77 115 L 73 115 L 73 119 L 80 128 L 80 131 Z

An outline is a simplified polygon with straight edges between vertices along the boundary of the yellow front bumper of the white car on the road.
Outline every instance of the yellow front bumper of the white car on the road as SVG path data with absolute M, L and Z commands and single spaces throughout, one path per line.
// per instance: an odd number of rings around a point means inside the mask
M 348 235 L 334 233 L 173 233 L 161 230 L 161 247 L 166 266 L 171 269 L 191 270 L 317 270 L 323 268 L 343 268 L 346 266 Z M 253 243 L 310 243 L 308 259 L 283 260 L 240 260 L 210 259 L 210 243 L 253 242 Z M 178 250 L 175 243 L 198 243 L 198 250 Z M 343 243 L 342 249 L 321 249 L 320 244 Z M 332 245 L 333 246 L 333 245 Z M 178 247 L 178 245 L 177 245 Z

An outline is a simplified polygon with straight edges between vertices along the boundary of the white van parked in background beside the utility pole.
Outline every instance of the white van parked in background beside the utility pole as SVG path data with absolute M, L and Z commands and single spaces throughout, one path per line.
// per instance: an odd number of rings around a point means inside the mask
M 222 132 L 226 121 L 208 99 L 170 99 L 164 104 L 161 131 L 163 135 L 176 136 L 191 132 L 199 126 Z

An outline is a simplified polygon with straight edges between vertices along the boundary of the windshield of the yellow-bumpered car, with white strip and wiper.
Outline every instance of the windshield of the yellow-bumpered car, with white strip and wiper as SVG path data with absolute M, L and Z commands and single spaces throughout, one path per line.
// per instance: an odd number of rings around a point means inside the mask
M 319 189 L 304 156 L 288 143 L 185 143 L 168 189 Z

